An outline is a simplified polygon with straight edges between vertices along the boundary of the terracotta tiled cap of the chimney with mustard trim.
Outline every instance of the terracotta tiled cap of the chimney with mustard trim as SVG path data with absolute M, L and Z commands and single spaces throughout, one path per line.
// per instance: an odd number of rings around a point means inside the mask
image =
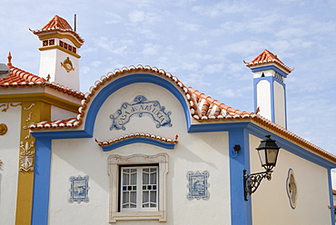
M 57 31 L 60 33 L 66 33 L 69 32 L 71 34 L 74 34 L 74 36 L 78 39 L 78 41 L 83 44 L 84 43 L 84 39 L 77 34 L 74 29 L 71 27 L 70 24 L 68 24 L 68 22 L 58 16 L 58 15 L 54 15 L 54 18 L 51 19 L 48 24 L 45 24 L 44 27 L 42 27 L 39 30 L 32 30 L 33 34 L 44 34 L 44 33 L 49 33 L 49 32 L 53 32 L 53 31 Z

